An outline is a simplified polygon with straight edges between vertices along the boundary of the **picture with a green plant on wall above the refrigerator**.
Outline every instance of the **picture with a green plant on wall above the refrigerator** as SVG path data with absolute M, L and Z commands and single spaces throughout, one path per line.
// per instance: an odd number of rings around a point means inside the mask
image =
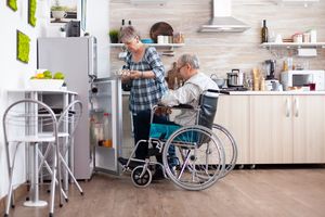
M 51 0 L 51 23 L 77 21 L 78 0 Z

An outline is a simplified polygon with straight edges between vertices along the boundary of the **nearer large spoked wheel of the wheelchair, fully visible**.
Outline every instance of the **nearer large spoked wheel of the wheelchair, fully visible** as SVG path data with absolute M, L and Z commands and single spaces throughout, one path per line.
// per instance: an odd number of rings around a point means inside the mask
M 178 157 L 173 166 L 171 158 Z M 224 173 L 224 151 L 212 130 L 187 126 L 174 131 L 166 141 L 162 162 L 171 181 L 186 190 L 204 190 Z

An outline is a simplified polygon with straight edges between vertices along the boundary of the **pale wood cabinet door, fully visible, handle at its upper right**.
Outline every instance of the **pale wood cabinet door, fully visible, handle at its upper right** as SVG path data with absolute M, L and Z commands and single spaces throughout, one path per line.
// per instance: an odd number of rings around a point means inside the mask
M 290 95 L 250 95 L 250 157 L 253 164 L 292 163 Z

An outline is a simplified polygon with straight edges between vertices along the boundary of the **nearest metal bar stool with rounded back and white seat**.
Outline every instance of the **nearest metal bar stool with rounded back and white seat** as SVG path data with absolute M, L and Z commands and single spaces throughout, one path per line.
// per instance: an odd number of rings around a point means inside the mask
M 58 180 L 61 180 L 61 166 L 57 161 L 58 156 L 58 140 L 57 140 L 57 120 L 53 111 L 43 102 L 36 100 L 21 100 L 11 104 L 3 115 L 3 132 L 6 154 L 6 164 L 9 173 L 9 191 L 4 216 L 9 216 L 10 206 L 14 207 L 13 195 L 13 175 L 15 168 L 15 157 L 20 146 L 27 144 L 32 148 L 34 164 L 31 168 L 30 180 L 30 201 L 24 203 L 25 206 L 47 206 L 46 201 L 39 200 L 39 176 L 38 176 L 38 144 L 47 143 L 53 145 L 52 150 L 52 176 L 51 176 L 51 196 L 50 212 L 53 216 L 54 212 L 54 195 L 56 171 Z M 29 149 L 28 149 L 29 150 Z M 26 153 L 26 156 L 29 152 Z M 29 157 L 27 157 L 29 158 Z M 58 188 L 62 189 L 61 181 Z M 61 194 L 60 194 L 61 195 Z M 61 196 L 60 196 L 61 199 Z M 62 203 L 62 202 L 60 202 Z

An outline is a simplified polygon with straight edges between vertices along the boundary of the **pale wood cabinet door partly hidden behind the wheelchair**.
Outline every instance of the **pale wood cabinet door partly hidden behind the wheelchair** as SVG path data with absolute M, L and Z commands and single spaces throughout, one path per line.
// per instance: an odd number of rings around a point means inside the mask
M 249 97 L 220 95 L 214 123 L 225 127 L 238 146 L 237 164 L 249 161 Z

